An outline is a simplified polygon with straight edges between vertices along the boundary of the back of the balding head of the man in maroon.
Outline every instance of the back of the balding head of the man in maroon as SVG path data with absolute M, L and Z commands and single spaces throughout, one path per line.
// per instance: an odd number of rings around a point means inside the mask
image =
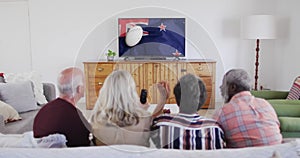
M 83 84 L 83 72 L 76 67 L 64 69 L 57 77 L 57 87 L 61 96 L 75 97 L 78 86 L 83 86 Z

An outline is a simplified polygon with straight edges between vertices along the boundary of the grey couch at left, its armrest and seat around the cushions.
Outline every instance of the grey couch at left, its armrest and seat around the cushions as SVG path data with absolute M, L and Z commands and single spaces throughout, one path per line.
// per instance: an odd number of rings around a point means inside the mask
M 51 101 L 56 98 L 55 85 L 53 83 L 43 83 L 44 95 L 47 101 Z M 40 105 L 41 107 L 42 105 Z M 0 133 L 3 134 L 22 134 L 27 131 L 32 131 L 33 120 L 37 114 L 37 110 L 32 110 L 28 112 L 19 113 L 22 117 L 22 120 L 15 122 L 10 122 L 4 124 L 3 116 L 0 115 Z

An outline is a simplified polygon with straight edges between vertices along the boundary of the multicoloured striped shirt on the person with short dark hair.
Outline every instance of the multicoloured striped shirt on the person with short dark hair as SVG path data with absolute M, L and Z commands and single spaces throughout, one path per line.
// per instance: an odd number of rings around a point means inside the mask
M 164 114 L 154 119 L 159 148 L 212 150 L 224 147 L 224 133 L 217 122 L 195 115 Z

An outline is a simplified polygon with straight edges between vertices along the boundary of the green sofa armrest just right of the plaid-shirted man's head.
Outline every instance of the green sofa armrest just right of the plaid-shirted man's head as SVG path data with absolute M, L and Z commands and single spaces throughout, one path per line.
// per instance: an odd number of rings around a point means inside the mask
M 258 98 L 269 99 L 286 99 L 288 91 L 272 91 L 272 90 L 259 90 L 251 91 L 251 94 Z

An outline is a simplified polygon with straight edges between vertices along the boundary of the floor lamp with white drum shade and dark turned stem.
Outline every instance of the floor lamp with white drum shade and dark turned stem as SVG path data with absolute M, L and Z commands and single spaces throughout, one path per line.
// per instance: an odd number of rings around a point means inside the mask
M 241 21 L 241 36 L 244 39 L 256 40 L 256 60 L 255 60 L 255 85 L 254 90 L 257 90 L 258 81 L 258 58 L 259 58 L 259 42 L 261 39 L 275 39 L 276 28 L 275 18 L 272 15 L 251 15 L 242 18 Z

